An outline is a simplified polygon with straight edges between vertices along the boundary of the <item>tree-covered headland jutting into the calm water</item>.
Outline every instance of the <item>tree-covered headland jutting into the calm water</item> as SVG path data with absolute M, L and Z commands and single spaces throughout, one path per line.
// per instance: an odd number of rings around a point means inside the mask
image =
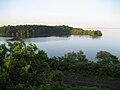
M 0 27 L 0 36 L 17 38 L 89 35 L 92 38 L 102 36 L 101 31 L 83 30 L 69 26 L 17 25 Z

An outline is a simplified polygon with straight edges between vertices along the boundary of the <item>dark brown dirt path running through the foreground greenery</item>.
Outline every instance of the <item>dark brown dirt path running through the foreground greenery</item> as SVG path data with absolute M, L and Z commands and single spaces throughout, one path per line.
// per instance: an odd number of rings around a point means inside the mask
M 112 80 L 97 80 L 87 77 L 76 77 L 74 75 L 67 75 L 64 77 L 64 82 L 76 86 L 97 86 L 109 88 L 111 90 L 120 90 L 120 81 Z

